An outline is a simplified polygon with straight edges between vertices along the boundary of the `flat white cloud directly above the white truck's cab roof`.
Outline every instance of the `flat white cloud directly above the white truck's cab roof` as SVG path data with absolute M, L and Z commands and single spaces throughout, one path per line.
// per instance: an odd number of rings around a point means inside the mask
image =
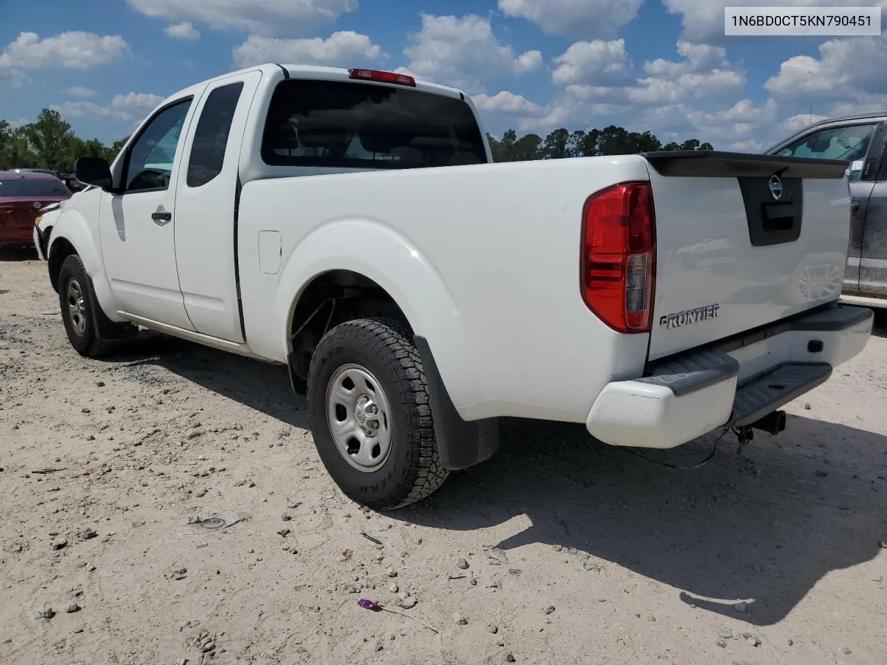
M 334 32 L 326 39 L 272 39 L 249 35 L 246 42 L 234 47 L 232 56 L 239 67 L 269 61 L 303 65 L 363 66 L 366 61 L 376 62 L 389 57 L 368 36 L 352 31 Z

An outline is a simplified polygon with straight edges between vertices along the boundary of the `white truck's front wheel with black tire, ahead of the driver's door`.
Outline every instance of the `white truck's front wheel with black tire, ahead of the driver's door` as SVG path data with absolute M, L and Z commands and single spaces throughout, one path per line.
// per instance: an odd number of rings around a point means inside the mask
M 104 312 L 93 309 L 94 298 L 90 288 L 90 279 L 80 257 L 77 254 L 67 256 L 59 270 L 61 320 L 75 351 L 81 356 L 96 358 L 114 348 L 114 341 L 98 337 L 95 317 L 104 316 Z M 80 294 L 79 299 L 75 298 L 75 293 Z

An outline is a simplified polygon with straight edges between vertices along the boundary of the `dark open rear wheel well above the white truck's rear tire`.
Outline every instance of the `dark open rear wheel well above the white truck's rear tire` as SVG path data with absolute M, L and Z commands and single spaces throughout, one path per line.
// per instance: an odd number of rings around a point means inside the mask
M 291 370 L 304 379 L 314 348 L 326 332 L 346 321 L 392 317 L 409 325 L 385 289 L 351 270 L 330 270 L 312 279 L 295 304 L 290 324 Z

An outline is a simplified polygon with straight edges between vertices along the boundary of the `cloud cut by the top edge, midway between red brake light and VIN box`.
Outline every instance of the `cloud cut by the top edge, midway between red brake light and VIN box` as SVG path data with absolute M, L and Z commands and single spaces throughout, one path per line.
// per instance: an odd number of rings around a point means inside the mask
M 506 16 L 530 20 L 552 35 L 610 37 L 630 23 L 644 0 L 498 0 Z

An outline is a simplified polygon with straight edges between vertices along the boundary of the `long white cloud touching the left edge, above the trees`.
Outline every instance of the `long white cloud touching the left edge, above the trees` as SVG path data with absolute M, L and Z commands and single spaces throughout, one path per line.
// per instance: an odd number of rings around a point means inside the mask
M 120 35 L 76 31 L 42 39 L 36 33 L 23 32 L 0 53 L 0 70 L 89 69 L 121 58 L 128 48 Z

